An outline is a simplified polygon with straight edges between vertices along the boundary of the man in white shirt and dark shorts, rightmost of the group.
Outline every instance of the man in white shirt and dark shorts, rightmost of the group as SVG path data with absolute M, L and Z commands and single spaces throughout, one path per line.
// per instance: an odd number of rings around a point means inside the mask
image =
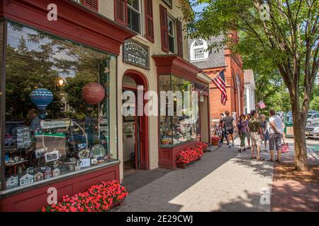
M 274 109 L 269 111 L 269 150 L 270 150 L 270 162 L 274 162 L 274 150 L 277 151 L 276 162 L 280 162 L 281 158 L 281 136 L 284 133 L 281 118 L 276 115 Z

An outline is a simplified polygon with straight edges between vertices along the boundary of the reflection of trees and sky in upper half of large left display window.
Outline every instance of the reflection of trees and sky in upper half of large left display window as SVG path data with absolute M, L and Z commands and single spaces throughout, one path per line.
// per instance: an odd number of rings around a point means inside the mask
M 26 119 L 28 109 L 35 107 L 30 93 L 47 88 L 54 100 L 47 107 L 50 117 L 66 117 L 61 102 L 63 93 L 68 104 L 78 114 L 84 112 L 82 88 L 99 81 L 108 87 L 106 54 L 77 44 L 52 38 L 15 23 L 8 24 L 9 35 L 18 36 L 18 45 L 8 39 L 6 47 L 6 118 Z M 65 86 L 57 87 L 57 78 L 65 78 Z M 100 80 L 101 78 L 101 80 Z M 65 95 L 66 94 L 66 95 Z

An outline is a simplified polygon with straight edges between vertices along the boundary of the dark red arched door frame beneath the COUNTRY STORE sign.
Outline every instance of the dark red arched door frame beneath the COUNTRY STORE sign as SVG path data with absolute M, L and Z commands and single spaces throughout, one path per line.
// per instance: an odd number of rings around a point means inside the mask
M 135 81 L 135 83 L 137 85 L 143 85 L 144 93 L 147 92 L 147 90 L 148 90 L 148 88 L 147 88 L 147 80 L 146 80 L 146 76 L 142 72 L 130 69 L 130 70 L 125 71 L 125 73 L 123 73 L 123 76 L 129 76 L 130 78 L 133 78 L 133 80 Z M 123 80 L 123 78 L 122 78 L 122 80 Z M 137 87 L 130 87 L 130 86 L 122 85 L 122 90 L 137 91 L 138 88 Z M 143 100 L 143 107 L 145 106 L 146 103 L 147 103 L 147 100 Z M 137 133 L 137 126 L 138 126 L 138 124 L 137 124 L 138 120 L 137 119 L 138 119 L 138 117 L 135 117 L 135 126 L 134 126 L 135 134 Z M 150 152 L 149 152 L 149 143 L 148 143 L 148 141 L 149 141 L 149 138 L 148 138 L 148 136 L 149 136 L 148 116 L 145 115 L 144 112 L 143 112 L 143 116 L 141 116 L 141 119 L 144 120 L 145 147 L 143 148 L 143 150 L 145 150 L 145 169 L 148 170 L 148 169 L 150 169 Z M 137 138 L 138 138 L 138 136 L 135 136 L 135 142 L 137 142 Z

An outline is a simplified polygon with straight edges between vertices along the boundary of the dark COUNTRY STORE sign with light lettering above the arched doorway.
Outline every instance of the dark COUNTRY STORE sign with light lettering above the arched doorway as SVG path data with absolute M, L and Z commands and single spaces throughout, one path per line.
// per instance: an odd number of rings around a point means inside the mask
M 135 40 L 125 40 L 123 45 L 123 61 L 143 69 L 150 69 L 150 54 L 148 47 Z

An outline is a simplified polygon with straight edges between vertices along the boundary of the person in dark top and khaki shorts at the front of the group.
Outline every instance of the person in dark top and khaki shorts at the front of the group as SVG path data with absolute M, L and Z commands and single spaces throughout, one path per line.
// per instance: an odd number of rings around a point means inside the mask
M 252 156 L 250 159 L 264 160 L 260 157 L 260 148 L 262 146 L 262 139 L 264 138 L 262 133 L 262 125 L 260 124 L 260 120 L 257 118 L 257 113 L 255 110 L 250 112 L 252 118 L 248 122 L 248 126 L 250 128 L 250 138 L 252 138 Z M 257 157 L 254 156 L 254 146 L 257 147 Z

